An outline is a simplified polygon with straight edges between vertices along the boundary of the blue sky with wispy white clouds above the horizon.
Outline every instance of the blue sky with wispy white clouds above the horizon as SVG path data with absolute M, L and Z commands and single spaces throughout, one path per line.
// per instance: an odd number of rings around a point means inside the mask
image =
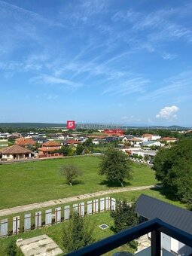
M 0 122 L 192 126 L 192 2 L 0 0 Z

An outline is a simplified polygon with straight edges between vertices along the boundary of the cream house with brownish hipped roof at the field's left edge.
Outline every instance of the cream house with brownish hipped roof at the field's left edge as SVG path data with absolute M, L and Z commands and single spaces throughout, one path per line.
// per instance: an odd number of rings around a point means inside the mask
M 29 151 L 27 148 L 20 147 L 19 145 L 0 149 L 0 160 L 18 160 L 28 157 L 32 157 L 32 151 Z

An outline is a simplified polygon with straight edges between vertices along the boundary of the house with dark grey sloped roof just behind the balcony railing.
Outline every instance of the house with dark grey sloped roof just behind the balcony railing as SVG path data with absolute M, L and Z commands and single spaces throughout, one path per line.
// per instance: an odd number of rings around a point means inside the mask
M 192 212 L 186 209 L 142 194 L 136 201 L 136 214 L 140 216 L 141 222 L 159 218 L 161 221 L 192 235 Z M 151 233 L 148 234 L 148 238 L 151 239 Z M 178 256 L 192 254 L 191 247 L 165 233 L 161 233 L 161 249 Z

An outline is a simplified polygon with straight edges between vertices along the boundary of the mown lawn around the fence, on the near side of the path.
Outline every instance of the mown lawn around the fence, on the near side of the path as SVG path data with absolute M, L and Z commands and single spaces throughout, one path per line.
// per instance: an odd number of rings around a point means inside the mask
M 117 193 L 117 194 L 110 194 L 108 196 L 114 197 L 114 198 L 120 199 L 120 200 L 126 199 L 128 202 L 131 202 L 134 199 L 136 200 L 139 197 L 140 194 L 147 194 L 151 197 L 155 197 L 155 198 L 163 200 L 167 203 L 172 203 L 175 206 L 180 206 L 182 208 L 186 208 L 186 206 L 184 204 L 181 204 L 179 202 L 176 202 L 176 201 L 173 201 L 173 200 L 170 200 L 170 199 L 166 198 L 162 188 L 139 190 L 139 191 L 130 191 L 130 192 L 120 192 L 120 193 Z M 96 197 L 96 198 L 98 198 L 98 197 Z M 79 201 L 79 202 L 77 201 L 76 203 L 80 203 L 80 202 L 81 201 Z M 84 202 L 86 203 L 87 200 L 84 200 Z M 73 203 L 69 203 L 68 205 L 72 205 L 72 204 Z M 60 205 L 60 206 L 63 209 L 64 205 Z M 47 209 L 54 209 L 55 207 L 56 206 L 48 207 Z M 39 210 L 44 212 L 45 209 L 39 209 Z M 35 212 L 37 212 L 37 211 L 38 210 L 30 211 L 32 213 L 32 224 L 35 221 L 34 216 L 35 216 Z M 21 226 L 20 227 L 23 227 L 22 219 L 23 219 L 23 216 L 24 216 L 25 213 L 26 212 L 23 212 L 22 214 L 16 214 L 16 215 L 20 215 L 20 217 L 21 217 L 21 220 L 20 220 L 20 225 Z M 27 212 L 27 213 L 29 213 L 29 212 Z M 13 216 L 14 215 L 9 216 L 9 219 L 12 220 Z M 3 218 L 5 218 L 5 217 L 3 217 Z M 102 238 L 107 237 L 107 236 L 111 236 L 113 234 L 113 231 L 111 230 L 110 227 L 113 227 L 114 221 L 111 218 L 109 212 L 102 212 L 102 213 L 98 213 L 96 215 L 90 215 L 90 216 L 87 216 L 87 218 L 91 222 L 94 223 L 95 230 L 93 232 L 93 236 L 96 240 L 102 239 Z M 42 220 L 44 221 L 44 217 L 42 218 Z M 12 227 L 11 224 L 12 223 L 10 222 L 10 227 Z M 101 230 L 98 227 L 100 224 L 107 224 L 109 226 L 109 228 L 106 229 L 106 230 Z M 39 236 L 39 235 L 44 234 L 44 233 L 46 233 L 48 236 L 50 236 L 60 246 L 60 248 L 62 248 L 62 227 L 63 227 L 63 225 L 65 225 L 65 223 L 56 224 L 56 225 L 53 225 L 51 227 L 42 227 L 41 229 L 38 229 L 38 230 L 32 230 L 32 231 L 29 231 L 29 232 L 26 232 L 26 233 L 20 233 L 17 236 L 10 236 L 10 237 L 5 238 L 5 239 L 0 239 L 0 248 L 1 248 L 0 256 L 1 255 L 6 255 L 5 251 L 6 251 L 6 248 L 8 246 L 8 243 L 11 241 L 11 239 L 14 239 L 14 241 L 15 241 L 16 239 L 18 239 L 20 237 L 22 237 L 23 239 L 26 239 L 26 238 L 33 237 L 33 236 Z M 127 248 L 120 247 L 120 248 L 115 249 L 114 251 L 123 251 L 123 250 L 126 251 L 126 249 Z M 112 254 L 112 252 L 109 252 L 106 255 L 111 255 L 111 254 Z

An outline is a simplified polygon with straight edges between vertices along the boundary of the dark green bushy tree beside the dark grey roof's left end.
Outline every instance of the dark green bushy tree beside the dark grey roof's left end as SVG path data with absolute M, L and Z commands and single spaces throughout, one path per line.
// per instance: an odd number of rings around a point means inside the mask
M 134 227 L 139 223 L 139 218 L 135 212 L 136 203 L 127 203 L 126 200 L 117 200 L 115 211 L 111 211 L 114 219 L 114 230 L 116 233 L 126 228 Z M 137 242 L 129 242 L 130 247 L 137 249 Z

